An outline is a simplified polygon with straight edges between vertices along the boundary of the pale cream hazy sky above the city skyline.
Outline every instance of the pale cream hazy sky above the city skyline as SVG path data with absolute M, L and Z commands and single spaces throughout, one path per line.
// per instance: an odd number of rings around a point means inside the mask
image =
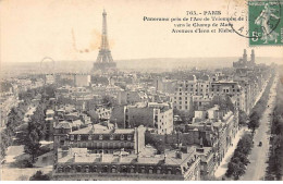
M 217 2 L 217 3 L 216 3 Z M 96 60 L 102 11 L 114 60 L 140 58 L 241 57 L 247 38 L 236 34 L 172 34 L 168 22 L 186 11 L 221 10 L 229 0 L 2 0 L 2 62 Z M 73 34 L 72 34 L 73 33 Z M 255 48 L 259 57 L 283 57 L 282 47 Z

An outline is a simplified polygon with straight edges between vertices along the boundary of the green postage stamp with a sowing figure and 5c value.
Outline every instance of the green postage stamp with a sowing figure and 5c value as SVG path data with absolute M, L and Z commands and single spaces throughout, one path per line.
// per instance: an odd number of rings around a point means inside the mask
M 283 46 L 283 0 L 248 1 L 249 46 Z

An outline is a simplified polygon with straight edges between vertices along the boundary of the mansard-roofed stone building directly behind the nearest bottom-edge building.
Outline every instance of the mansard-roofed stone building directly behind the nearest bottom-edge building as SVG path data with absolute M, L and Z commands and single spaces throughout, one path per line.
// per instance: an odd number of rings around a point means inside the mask
M 54 150 L 58 148 L 87 148 L 89 152 L 113 154 L 124 148 L 137 154 L 145 147 L 145 127 L 115 128 L 112 124 L 95 124 L 72 132 L 69 123 L 59 123 L 54 130 Z M 62 150 L 62 151 L 63 151 Z

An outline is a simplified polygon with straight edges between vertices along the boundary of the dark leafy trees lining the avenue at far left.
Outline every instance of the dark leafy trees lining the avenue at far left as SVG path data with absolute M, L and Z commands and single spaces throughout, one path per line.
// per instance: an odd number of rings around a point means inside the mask
M 24 124 L 25 113 L 33 106 L 33 100 L 39 97 L 40 101 L 36 111 L 28 121 L 24 137 L 16 137 L 16 128 Z M 19 93 L 20 103 L 11 109 L 8 114 L 7 127 L 1 132 L 0 159 L 5 157 L 7 148 L 13 145 L 13 137 L 23 139 L 25 152 L 32 156 L 32 162 L 40 152 L 39 140 L 45 137 L 45 111 L 48 100 L 54 97 L 54 86 L 45 86 Z

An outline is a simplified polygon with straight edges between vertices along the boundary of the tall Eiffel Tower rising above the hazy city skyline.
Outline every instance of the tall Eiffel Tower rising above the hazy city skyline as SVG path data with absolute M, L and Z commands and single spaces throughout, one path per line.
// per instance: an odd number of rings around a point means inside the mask
M 102 35 L 101 45 L 99 48 L 99 53 L 97 60 L 94 63 L 93 71 L 101 70 L 107 72 L 109 70 L 116 69 L 116 63 L 113 61 L 111 51 L 109 49 L 108 38 L 107 38 L 107 13 L 103 10 L 102 13 Z

